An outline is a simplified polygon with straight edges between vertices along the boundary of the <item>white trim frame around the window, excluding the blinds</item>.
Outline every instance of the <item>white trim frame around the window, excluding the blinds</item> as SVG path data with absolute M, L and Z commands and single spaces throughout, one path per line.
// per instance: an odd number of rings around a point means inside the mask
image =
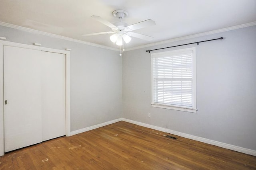
M 192 51 L 192 107 L 188 106 L 175 106 L 175 105 L 168 105 L 168 104 L 161 104 L 154 102 L 154 80 L 153 80 L 153 58 L 154 56 L 159 55 L 174 55 L 176 53 L 184 53 L 186 51 Z M 152 53 L 151 54 L 151 106 L 152 107 L 159 107 L 164 109 L 173 109 L 173 110 L 179 110 L 179 111 L 187 111 L 196 113 L 196 47 L 192 48 L 186 48 L 186 49 L 178 49 L 178 50 L 172 50 L 172 51 L 165 51 L 160 53 Z

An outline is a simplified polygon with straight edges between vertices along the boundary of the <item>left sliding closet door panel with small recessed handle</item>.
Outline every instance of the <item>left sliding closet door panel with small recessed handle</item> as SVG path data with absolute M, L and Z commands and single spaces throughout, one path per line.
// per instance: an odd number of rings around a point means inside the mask
M 4 150 L 42 141 L 41 51 L 4 46 Z

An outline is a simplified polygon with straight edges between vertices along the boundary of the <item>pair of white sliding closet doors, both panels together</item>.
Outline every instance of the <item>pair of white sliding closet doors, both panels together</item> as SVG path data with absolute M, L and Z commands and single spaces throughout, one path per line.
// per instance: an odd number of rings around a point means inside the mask
M 5 152 L 66 135 L 65 57 L 4 46 Z

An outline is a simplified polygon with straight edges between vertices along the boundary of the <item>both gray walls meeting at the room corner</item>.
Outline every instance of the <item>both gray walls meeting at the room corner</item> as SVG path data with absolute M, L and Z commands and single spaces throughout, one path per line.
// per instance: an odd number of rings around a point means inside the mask
M 126 51 L 122 58 L 117 51 L 3 26 L 0 36 L 72 49 L 71 131 L 124 117 L 256 150 L 256 26 Z M 151 107 L 151 55 L 145 50 L 221 36 L 225 39 L 167 49 L 196 47 L 198 112 Z

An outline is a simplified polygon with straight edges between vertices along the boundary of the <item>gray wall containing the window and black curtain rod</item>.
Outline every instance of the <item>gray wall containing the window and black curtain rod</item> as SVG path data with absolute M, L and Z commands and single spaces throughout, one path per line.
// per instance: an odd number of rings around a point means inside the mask
M 151 107 L 151 55 L 145 51 L 219 37 L 162 50 L 196 47 L 198 112 Z M 256 26 L 126 51 L 122 72 L 124 118 L 256 150 Z

